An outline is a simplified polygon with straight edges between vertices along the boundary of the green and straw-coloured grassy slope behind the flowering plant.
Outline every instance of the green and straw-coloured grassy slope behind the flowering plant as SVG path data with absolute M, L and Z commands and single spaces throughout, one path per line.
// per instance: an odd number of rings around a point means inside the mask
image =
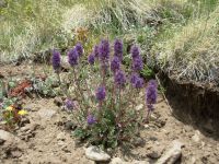
M 147 57 L 178 79 L 217 78 L 218 0 L 5 1 L 0 10 L 4 59 L 67 47 L 72 30 L 85 26 L 89 36 L 131 35 Z

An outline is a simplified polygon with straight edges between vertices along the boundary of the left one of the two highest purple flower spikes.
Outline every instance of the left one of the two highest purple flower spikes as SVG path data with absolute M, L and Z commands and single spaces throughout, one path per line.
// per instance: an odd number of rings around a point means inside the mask
M 99 57 L 101 61 L 104 62 L 108 60 L 110 51 L 111 51 L 111 47 L 110 47 L 108 40 L 103 39 L 99 46 Z

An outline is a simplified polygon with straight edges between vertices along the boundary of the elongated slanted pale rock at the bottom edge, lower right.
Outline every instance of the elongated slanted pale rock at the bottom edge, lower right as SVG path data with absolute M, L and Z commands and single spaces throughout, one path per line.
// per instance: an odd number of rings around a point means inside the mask
M 174 164 L 182 155 L 183 144 L 174 140 L 168 151 L 158 160 L 157 164 Z

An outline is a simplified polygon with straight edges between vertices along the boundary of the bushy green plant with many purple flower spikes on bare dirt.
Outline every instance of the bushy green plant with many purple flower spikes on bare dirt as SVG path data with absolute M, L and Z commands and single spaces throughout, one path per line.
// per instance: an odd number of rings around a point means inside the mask
M 107 39 L 102 39 L 90 55 L 81 44 L 68 51 L 71 84 L 66 92 L 65 107 L 77 124 L 73 133 L 81 140 L 104 148 L 129 142 L 143 122 L 143 115 L 136 110 L 136 106 L 146 103 L 148 110 L 152 112 L 157 99 L 157 83 L 150 81 L 146 101 L 143 97 L 138 101 L 139 93 L 143 93 L 146 86 L 140 77 L 143 68 L 140 49 L 136 45 L 130 54 L 124 54 L 123 49 L 120 39 L 112 45 Z M 88 56 L 85 62 L 81 58 L 83 54 Z M 123 65 L 125 55 L 130 56 L 130 66 Z M 58 65 L 55 65 L 54 69 L 57 68 Z

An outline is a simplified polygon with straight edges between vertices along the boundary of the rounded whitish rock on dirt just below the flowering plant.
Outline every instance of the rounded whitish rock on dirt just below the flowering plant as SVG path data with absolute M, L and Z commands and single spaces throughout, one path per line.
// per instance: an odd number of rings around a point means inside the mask
M 85 156 L 89 160 L 93 160 L 96 162 L 106 162 L 111 160 L 111 156 L 105 153 L 104 151 L 102 151 L 101 149 L 99 149 L 97 147 L 89 147 L 85 150 Z

